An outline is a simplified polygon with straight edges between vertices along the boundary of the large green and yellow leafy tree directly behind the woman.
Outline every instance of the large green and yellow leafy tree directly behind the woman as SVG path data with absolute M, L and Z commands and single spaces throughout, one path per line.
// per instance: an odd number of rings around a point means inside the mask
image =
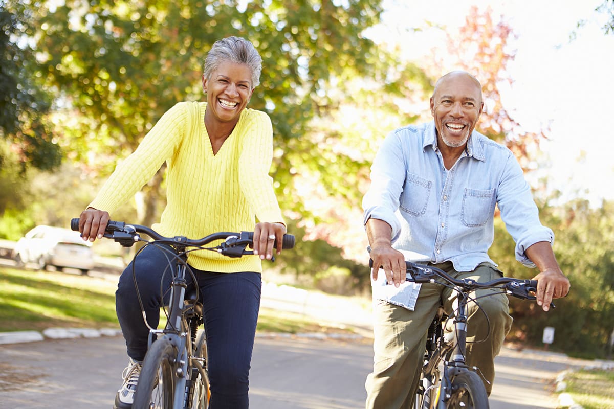
M 343 84 L 349 72 L 368 66 L 373 44 L 360 33 L 380 12 L 376 0 L 340 6 L 290 0 L 68 0 L 37 9 L 37 48 L 41 72 L 72 120 L 63 143 L 87 143 L 74 156 L 87 162 L 82 154 L 90 148 L 127 155 L 171 105 L 200 99 L 201 64 L 215 40 L 228 35 L 252 40 L 264 63 L 250 106 L 271 116 L 282 205 L 300 212 L 301 204 L 293 201 L 292 164 L 283 153 L 289 141 L 305 137 L 314 113 L 331 104 L 328 82 Z M 74 118 L 85 120 L 75 124 Z M 107 163 L 101 165 L 105 173 Z M 161 183 L 158 174 L 146 187 L 144 224 L 160 207 Z

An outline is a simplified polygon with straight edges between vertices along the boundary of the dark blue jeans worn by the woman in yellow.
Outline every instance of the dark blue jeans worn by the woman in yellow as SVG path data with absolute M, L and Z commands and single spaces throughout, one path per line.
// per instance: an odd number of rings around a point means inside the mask
M 128 356 L 136 361 L 142 361 L 145 357 L 149 329 L 143 322 L 134 277 L 147 314 L 147 323 L 156 328 L 160 321 L 160 307 L 168 305 L 169 301 L 172 279 L 169 256 L 174 270 L 176 266 L 168 252 L 149 246 L 126 267 L 119 279 L 115 292 L 115 310 L 126 339 Z M 211 408 L 247 408 L 249 369 L 260 308 L 262 277 L 256 272 L 215 273 L 192 270 L 196 283 L 189 274 L 185 278 L 188 289 L 196 285 L 201 292 L 211 378 Z M 161 291 L 164 294 L 163 300 L 160 300 Z

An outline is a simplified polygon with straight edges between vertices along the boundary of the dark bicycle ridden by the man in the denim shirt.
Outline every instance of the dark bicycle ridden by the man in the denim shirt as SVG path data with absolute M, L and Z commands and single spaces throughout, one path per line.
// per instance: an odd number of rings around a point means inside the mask
M 373 260 L 369 262 L 373 267 Z M 438 283 L 457 293 L 454 330 L 446 332 L 448 319 L 440 306 L 427 331 L 424 364 L 414 398 L 414 409 L 488 409 L 488 394 L 477 367 L 466 363 L 467 305 L 482 297 L 505 293 L 519 299 L 534 300 L 537 281 L 501 277 L 479 283 L 458 280 L 437 267 L 406 261 L 408 277 L 414 283 Z M 500 289 L 480 297 L 471 297 L 476 289 Z M 550 304 L 554 308 L 554 304 Z

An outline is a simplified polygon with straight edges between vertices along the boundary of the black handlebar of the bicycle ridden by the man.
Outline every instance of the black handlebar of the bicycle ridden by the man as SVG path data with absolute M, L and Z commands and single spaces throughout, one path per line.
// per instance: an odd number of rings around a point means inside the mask
M 435 278 L 442 278 L 453 286 L 463 289 L 464 291 L 474 291 L 480 288 L 502 288 L 505 292 L 519 299 L 534 300 L 537 292 L 537 280 L 521 280 L 519 278 L 501 277 L 491 281 L 480 283 L 470 278 L 462 278 L 461 280 L 452 277 L 445 271 L 433 266 L 425 266 L 416 262 L 405 262 L 407 272 L 411 277 L 406 277 L 406 281 L 414 283 L 434 283 Z M 369 267 L 373 267 L 373 259 L 369 259 Z M 554 304 L 550 304 L 554 308 Z

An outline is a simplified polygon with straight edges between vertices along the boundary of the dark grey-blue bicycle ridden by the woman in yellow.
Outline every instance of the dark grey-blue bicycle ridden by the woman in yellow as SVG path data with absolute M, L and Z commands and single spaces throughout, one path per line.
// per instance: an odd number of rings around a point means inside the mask
M 71 229 L 79 231 L 78 218 L 71 220 Z M 152 240 L 143 239 L 139 233 L 148 235 Z M 193 240 L 184 236 L 164 237 L 150 227 L 139 224 L 109 221 L 103 237 L 123 247 L 131 247 L 136 242 L 144 242 L 146 246 L 168 245 L 174 250 L 166 250 L 169 252 L 169 262 L 173 258 L 177 266 L 170 287 L 168 310 L 165 307 L 166 326 L 163 329 L 150 327 L 147 354 L 134 393 L 133 408 L 208 408 L 211 392 L 206 333 L 204 329 L 198 329 L 203 323 L 203 305 L 198 300 L 197 289 L 186 292 L 185 278 L 188 273 L 193 274 L 187 265 L 187 254 L 195 250 L 216 251 L 231 258 L 254 254 L 252 250 L 247 250 L 252 245 L 254 233 L 218 232 Z M 223 241 L 212 247 L 204 247 L 217 240 Z M 274 247 L 277 248 L 277 245 L 276 240 Z M 282 247 L 294 247 L 294 236 L 284 235 Z M 165 248 L 161 250 L 165 251 Z M 142 303 L 141 310 L 144 310 Z

